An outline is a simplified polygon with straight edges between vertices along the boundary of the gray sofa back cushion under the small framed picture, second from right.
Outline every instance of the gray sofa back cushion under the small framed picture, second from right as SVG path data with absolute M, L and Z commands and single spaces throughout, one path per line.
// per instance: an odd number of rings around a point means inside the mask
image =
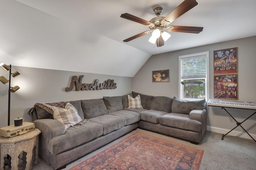
M 157 111 L 172 112 L 172 100 L 166 96 L 155 96 L 151 102 L 150 109 Z

